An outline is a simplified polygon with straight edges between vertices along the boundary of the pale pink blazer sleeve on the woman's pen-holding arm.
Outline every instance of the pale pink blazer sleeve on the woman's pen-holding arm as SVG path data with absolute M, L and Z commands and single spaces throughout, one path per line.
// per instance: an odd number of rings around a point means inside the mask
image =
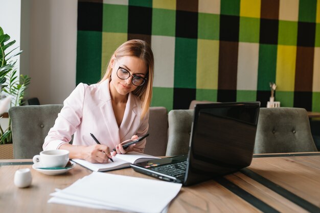
M 45 137 L 43 150 L 58 149 L 62 144 L 69 143 L 81 122 L 85 96 L 84 84 L 76 89 L 63 101 L 63 108 L 58 114 L 54 126 Z

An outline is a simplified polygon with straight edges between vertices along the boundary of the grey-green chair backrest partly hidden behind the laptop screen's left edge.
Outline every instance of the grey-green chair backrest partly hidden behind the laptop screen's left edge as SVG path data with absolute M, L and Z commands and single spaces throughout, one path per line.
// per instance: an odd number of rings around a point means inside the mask
M 169 138 L 166 155 L 187 154 L 194 110 L 171 110 L 168 114 Z

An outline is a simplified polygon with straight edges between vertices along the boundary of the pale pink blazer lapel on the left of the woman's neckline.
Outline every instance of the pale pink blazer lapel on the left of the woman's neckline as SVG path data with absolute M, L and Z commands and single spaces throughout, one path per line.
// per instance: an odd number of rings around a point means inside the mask
M 115 117 L 115 113 L 113 113 L 108 79 L 101 83 L 99 90 L 99 99 L 101 100 L 100 111 L 104 118 L 106 129 L 108 130 L 110 136 L 110 138 L 107 140 L 110 140 L 113 143 L 113 145 L 117 146 L 117 144 L 120 143 L 119 128 Z M 103 129 L 104 128 L 101 127 L 101 130 Z

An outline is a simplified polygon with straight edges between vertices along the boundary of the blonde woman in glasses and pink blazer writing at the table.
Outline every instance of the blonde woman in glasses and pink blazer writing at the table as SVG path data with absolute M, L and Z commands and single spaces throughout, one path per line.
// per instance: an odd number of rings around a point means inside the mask
M 92 163 L 108 162 L 115 147 L 112 155 L 143 152 L 146 139 L 127 149 L 120 143 L 148 131 L 153 67 L 153 53 L 145 41 L 129 40 L 118 47 L 98 84 L 81 83 L 64 100 L 43 150 L 66 149 L 70 158 Z

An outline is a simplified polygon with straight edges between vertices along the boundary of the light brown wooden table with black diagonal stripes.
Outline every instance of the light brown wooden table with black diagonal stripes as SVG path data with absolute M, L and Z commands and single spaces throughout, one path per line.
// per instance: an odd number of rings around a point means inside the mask
M 47 203 L 55 188 L 64 189 L 91 171 L 76 165 L 51 176 L 33 170 L 31 164 L 28 159 L 0 161 L 1 212 L 110 212 Z M 19 189 L 13 184 L 20 168 L 31 168 L 31 187 Z M 152 178 L 132 169 L 110 173 Z M 314 152 L 255 155 L 250 167 L 240 172 L 182 187 L 168 212 L 320 212 L 319 207 L 320 152 Z

